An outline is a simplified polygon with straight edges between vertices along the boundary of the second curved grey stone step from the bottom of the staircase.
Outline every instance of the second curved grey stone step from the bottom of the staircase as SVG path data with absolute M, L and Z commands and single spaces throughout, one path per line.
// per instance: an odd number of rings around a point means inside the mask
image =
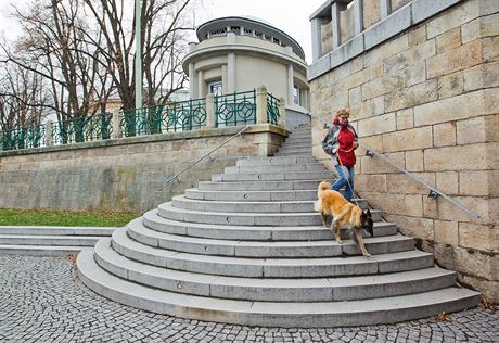
M 264 302 L 327 302 L 421 293 L 452 287 L 456 274 L 438 267 L 350 278 L 277 279 L 218 277 L 145 265 L 95 245 L 95 262 L 106 271 L 143 285 L 182 294 Z

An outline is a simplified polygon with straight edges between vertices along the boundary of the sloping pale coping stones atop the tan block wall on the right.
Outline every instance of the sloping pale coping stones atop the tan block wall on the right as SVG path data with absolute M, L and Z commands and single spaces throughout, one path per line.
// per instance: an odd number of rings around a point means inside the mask
M 459 2 L 462 2 L 462 0 L 413 0 L 315 61 L 307 69 L 308 81 Z M 322 7 L 330 4 L 331 1 L 328 1 Z M 316 12 L 319 13 L 318 11 Z

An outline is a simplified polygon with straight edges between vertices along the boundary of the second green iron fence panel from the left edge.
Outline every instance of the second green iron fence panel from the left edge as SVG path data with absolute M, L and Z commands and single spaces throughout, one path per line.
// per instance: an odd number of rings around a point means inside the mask
M 113 114 L 101 113 L 54 123 L 52 127 L 55 145 L 110 139 L 113 134 Z

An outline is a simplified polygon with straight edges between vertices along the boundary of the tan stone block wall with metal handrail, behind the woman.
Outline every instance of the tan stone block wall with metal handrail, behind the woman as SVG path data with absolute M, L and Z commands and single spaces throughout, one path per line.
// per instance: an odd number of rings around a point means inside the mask
M 361 143 L 481 214 L 428 198 L 358 151 L 357 191 L 461 282 L 499 302 L 499 1 L 460 1 L 310 86 L 314 154 L 325 165 L 323 125 L 349 106 Z

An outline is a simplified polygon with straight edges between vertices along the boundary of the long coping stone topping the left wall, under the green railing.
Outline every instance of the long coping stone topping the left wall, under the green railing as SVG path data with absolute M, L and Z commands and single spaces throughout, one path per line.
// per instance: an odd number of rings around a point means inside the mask
M 203 129 L 190 130 L 190 131 L 178 131 L 178 132 L 166 132 L 166 134 L 138 136 L 138 137 L 114 138 L 114 139 L 98 140 L 98 141 L 92 141 L 92 142 L 71 143 L 71 144 L 63 144 L 63 145 L 29 148 L 29 149 L 22 149 L 22 150 L 8 150 L 8 151 L 0 151 L 0 158 L 8 157 L 8 156 L 27 155 L 27 154 L 73 151 L 73 150 L 80 150 L 80 149 L 119 147 L 119 145 L 127 145 L 127 144 L 140 144 L 140 143 L 199 139 L 199 138 L 214 138 L 214 137 L 220 137 L 220 136 L 233 136 L 238 134 L 240 130 L 242 130 L 243 128 L 244 128 L 244 125 L 230 126 L 230 127 L 218 127 L 218 128 L 203 128 Z M 251 124 L 250 128 L 244 132 L 244 135 L 264 134 L 264 132 L 274 134 L 274 135 L 279 135 L 283 137 L 287 137 L 290 134 L 290 131 L 287 131 L 286 129 L 280 126 L 272 125 L 272 124 Z

